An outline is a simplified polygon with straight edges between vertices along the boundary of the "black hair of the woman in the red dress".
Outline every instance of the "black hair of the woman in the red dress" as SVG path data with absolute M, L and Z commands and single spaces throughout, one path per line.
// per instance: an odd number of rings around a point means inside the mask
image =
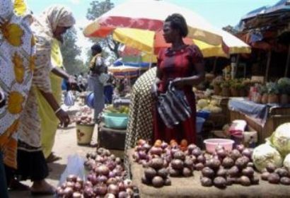
M 168 16 L 165 22 L 170 22 L 171 28 L 175 30 L 179 30 L 180 35 L 182 37 L 186 37 L 188 34 L 187 23 L 185 18 L 179 13 L 173 13 L 172 15 Z

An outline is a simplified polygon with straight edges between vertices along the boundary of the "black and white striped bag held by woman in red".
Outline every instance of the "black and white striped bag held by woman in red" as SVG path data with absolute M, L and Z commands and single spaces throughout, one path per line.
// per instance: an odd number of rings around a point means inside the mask
M 185 93 L 169 83 L 168 91 L 158 95 L 157 110 L 166 127 L 173 128 L 191 116 L 192 110 Z

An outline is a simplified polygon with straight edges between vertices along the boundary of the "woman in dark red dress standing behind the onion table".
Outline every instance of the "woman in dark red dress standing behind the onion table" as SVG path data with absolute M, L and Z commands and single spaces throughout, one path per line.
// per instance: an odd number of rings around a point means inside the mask
M 171 47 L 161 50 L 158 55 L 156 83 L 158 92 L 165 93 L 169 81 L 173 86 L 184 91 L 187 101 L 192 109 L 192 115 L 184 122 L 169 129 L 161 120 L 160 115 L 154 108 L 153 139 L 162 139 L 169 142 L 171 139 L 181 141 L 186 139 L 188 143 L 195 143 L 195 93 L 192 86 L 198 85 L 204 80 L 204 61 L 202 53 L 196 45 L 185 45 L 182 37 L 188 33 L 185 18 L 174 13 L 163 25 L 163 37 Z

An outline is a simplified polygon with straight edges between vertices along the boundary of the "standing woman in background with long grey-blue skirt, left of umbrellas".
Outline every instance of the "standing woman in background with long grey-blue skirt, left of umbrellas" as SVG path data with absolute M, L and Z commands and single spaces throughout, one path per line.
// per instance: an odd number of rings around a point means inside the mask
M 105 95 L 104 95 L 104 83 L 107 80 L 101 78 L 103 74 L 107 71 L 107 67 L 104 64 L 104 59 L 102 57 L 102 47 L 95 44 L 91 47 L 92 59 L 89 65 L 90 74 L 88 76 L 88 89 L 93 91 L 94 95 L 94 120 L 97 123 L 99 121 L 100 112 L 103 111 L 105 107 Z

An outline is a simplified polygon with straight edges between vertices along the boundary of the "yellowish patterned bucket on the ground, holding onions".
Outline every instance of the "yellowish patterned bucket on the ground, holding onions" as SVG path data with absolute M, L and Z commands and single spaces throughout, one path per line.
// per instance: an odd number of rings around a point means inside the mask
M 95 124 L 76 124 L 76 140 L 79 145 L 91 143 Z

